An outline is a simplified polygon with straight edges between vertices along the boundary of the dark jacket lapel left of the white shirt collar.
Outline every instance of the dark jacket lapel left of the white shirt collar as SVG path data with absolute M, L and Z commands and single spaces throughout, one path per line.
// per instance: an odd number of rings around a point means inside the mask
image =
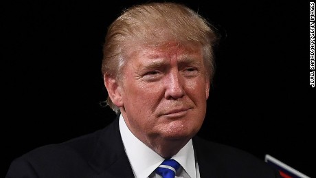
M 118 120 L 119 116 L 103 129 L 95 153 L 89 161 L 98 173 L 96 177 L 134 177 L 124 151 Z

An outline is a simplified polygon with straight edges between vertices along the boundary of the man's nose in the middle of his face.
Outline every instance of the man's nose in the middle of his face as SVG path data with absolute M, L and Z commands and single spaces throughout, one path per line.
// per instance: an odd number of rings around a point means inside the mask
M 165 98 L 168 100 L 177 100 L 185 95 L 183 90 L 183 81 L 179 71 L 171 71 L 166 78 Z

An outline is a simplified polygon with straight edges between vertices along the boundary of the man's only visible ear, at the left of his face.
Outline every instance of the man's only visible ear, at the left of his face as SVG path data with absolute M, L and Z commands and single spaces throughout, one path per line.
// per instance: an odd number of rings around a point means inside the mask
M 103 75 L 104 85 L 108 91 L 108 95 L 111 98 L 113 104 L 117 107 L 123 107 L 122 92 L 119 83 L 116 78 L 107 74 Z

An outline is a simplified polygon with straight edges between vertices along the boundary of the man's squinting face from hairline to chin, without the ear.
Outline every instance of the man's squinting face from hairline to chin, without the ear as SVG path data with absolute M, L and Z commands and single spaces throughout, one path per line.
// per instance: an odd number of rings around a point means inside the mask
M 168 43 L 128 54 L 120 92 L 128 128 L 145 144 L 189 140 L 201 128 L 210 81 L 202 47 Z

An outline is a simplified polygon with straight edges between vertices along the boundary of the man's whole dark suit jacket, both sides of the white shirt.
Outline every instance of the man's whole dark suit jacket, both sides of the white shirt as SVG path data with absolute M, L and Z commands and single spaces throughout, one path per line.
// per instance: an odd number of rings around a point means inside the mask
M 201 177 L 278 177 L 278 171 L 236 148 L 193 138 Z M 139 153 L 141 154 L 141 153 Z M 134 177 L 118 118 L 100 131 L 36 148 L 15 159 L 6 178 Z

